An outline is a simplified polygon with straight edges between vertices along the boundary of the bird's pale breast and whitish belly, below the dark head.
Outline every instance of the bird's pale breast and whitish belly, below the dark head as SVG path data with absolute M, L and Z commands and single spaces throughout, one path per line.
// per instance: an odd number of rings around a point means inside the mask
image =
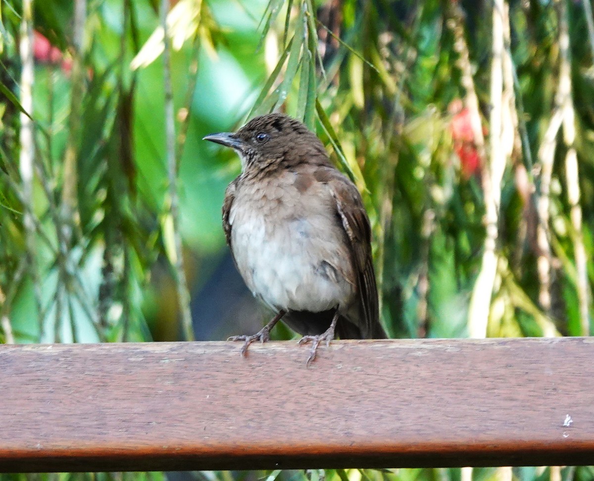
M 290 175 L 240 185 L 231 246 L 249 289 L 273 309 L 320 312 L 355 296 L 350 249 L 326 186 Z

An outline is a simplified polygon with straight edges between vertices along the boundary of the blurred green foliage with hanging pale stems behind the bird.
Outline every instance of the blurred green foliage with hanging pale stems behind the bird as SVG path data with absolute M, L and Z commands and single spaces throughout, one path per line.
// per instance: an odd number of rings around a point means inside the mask
M 271 110 L 314 129 L 361 190 L 391 337 L 589 336 L 590 0 L 0 0 L 0 20 L 0 342 L 257 331 L 270 312 L 220 221 L 239 159 L 201 138 Z M 594 469 L 175 476 L 561 481 Z

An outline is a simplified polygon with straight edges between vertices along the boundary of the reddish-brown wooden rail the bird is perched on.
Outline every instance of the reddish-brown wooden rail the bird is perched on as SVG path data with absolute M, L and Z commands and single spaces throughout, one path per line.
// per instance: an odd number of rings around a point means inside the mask
M 0 471 L 592 464 L 594 339 L 0 346 Z

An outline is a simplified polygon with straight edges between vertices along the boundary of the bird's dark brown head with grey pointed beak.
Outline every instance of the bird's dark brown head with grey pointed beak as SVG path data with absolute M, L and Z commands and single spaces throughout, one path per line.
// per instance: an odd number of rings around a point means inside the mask
M 204 137 L 217 144 L 233 148 L 241 158 L 242 171 L 262 169 L 271 164 L 292 166 L 323 157 L 324 145 L 296 119 L 283 113 L 269 113 L 251 119 L 237 132 L 220 132 Z

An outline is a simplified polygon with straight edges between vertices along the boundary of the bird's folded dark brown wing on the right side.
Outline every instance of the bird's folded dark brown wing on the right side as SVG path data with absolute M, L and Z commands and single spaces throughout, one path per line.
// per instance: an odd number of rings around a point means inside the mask
M 341 173 L 328 168 L 327 185 L 336 202 L 336 211 L 350 241 L 350 252 L 359 286 L 366 337 L 386 337 L 379 321 L 377 286 L 371 258 L 371 226 L 356 186 Z M 321 179 L 320 179 L 321 180 Z

